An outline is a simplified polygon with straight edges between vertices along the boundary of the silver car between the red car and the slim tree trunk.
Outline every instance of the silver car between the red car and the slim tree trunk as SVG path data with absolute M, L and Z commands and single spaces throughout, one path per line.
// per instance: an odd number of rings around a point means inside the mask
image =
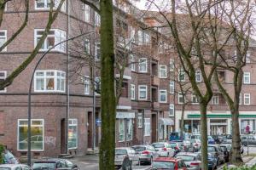
M 201 170 L 200 153 L 180 152 L 175 157 L 182 159 L 189 170 Z

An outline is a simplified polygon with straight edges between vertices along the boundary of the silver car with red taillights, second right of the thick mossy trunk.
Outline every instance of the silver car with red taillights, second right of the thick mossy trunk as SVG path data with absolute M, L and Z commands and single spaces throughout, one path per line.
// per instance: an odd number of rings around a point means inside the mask
M 158 152 L 151 145 L 135 145 L 131 148 L 138 154 L 140 164 L 147 162 L 151 165 L 154 158 L 159 156 Z

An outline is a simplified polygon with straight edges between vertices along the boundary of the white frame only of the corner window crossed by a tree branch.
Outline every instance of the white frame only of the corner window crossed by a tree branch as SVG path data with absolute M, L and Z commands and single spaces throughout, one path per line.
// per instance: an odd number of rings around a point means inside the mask
M 44 31 L 44 29 L 34 29 L 34 48 L 37 47 L 38 42 L 37 38 L 42 37 L 43 35 L 38 35 L 38 31 Z M 48 35 L 44 40 L 44 48 L 40 48 L 39 51 L 47 51 L 49 48 L 47 48 L 47 38 L 48 37 L 54 37 L 55 38 L 55 44 L 59 42 L 63 42 L 66 40 L 66 31 L 62 31 L 60 29 L 50 29 L 49 31 L 54 31 L 55 35 Z M 54 45 L 55 45 L 54 44 Z M 60 45 L 53 48 L 51 51 L 59 51 L 62 53 L 66 53 L 66 42 L 61 43 Z

